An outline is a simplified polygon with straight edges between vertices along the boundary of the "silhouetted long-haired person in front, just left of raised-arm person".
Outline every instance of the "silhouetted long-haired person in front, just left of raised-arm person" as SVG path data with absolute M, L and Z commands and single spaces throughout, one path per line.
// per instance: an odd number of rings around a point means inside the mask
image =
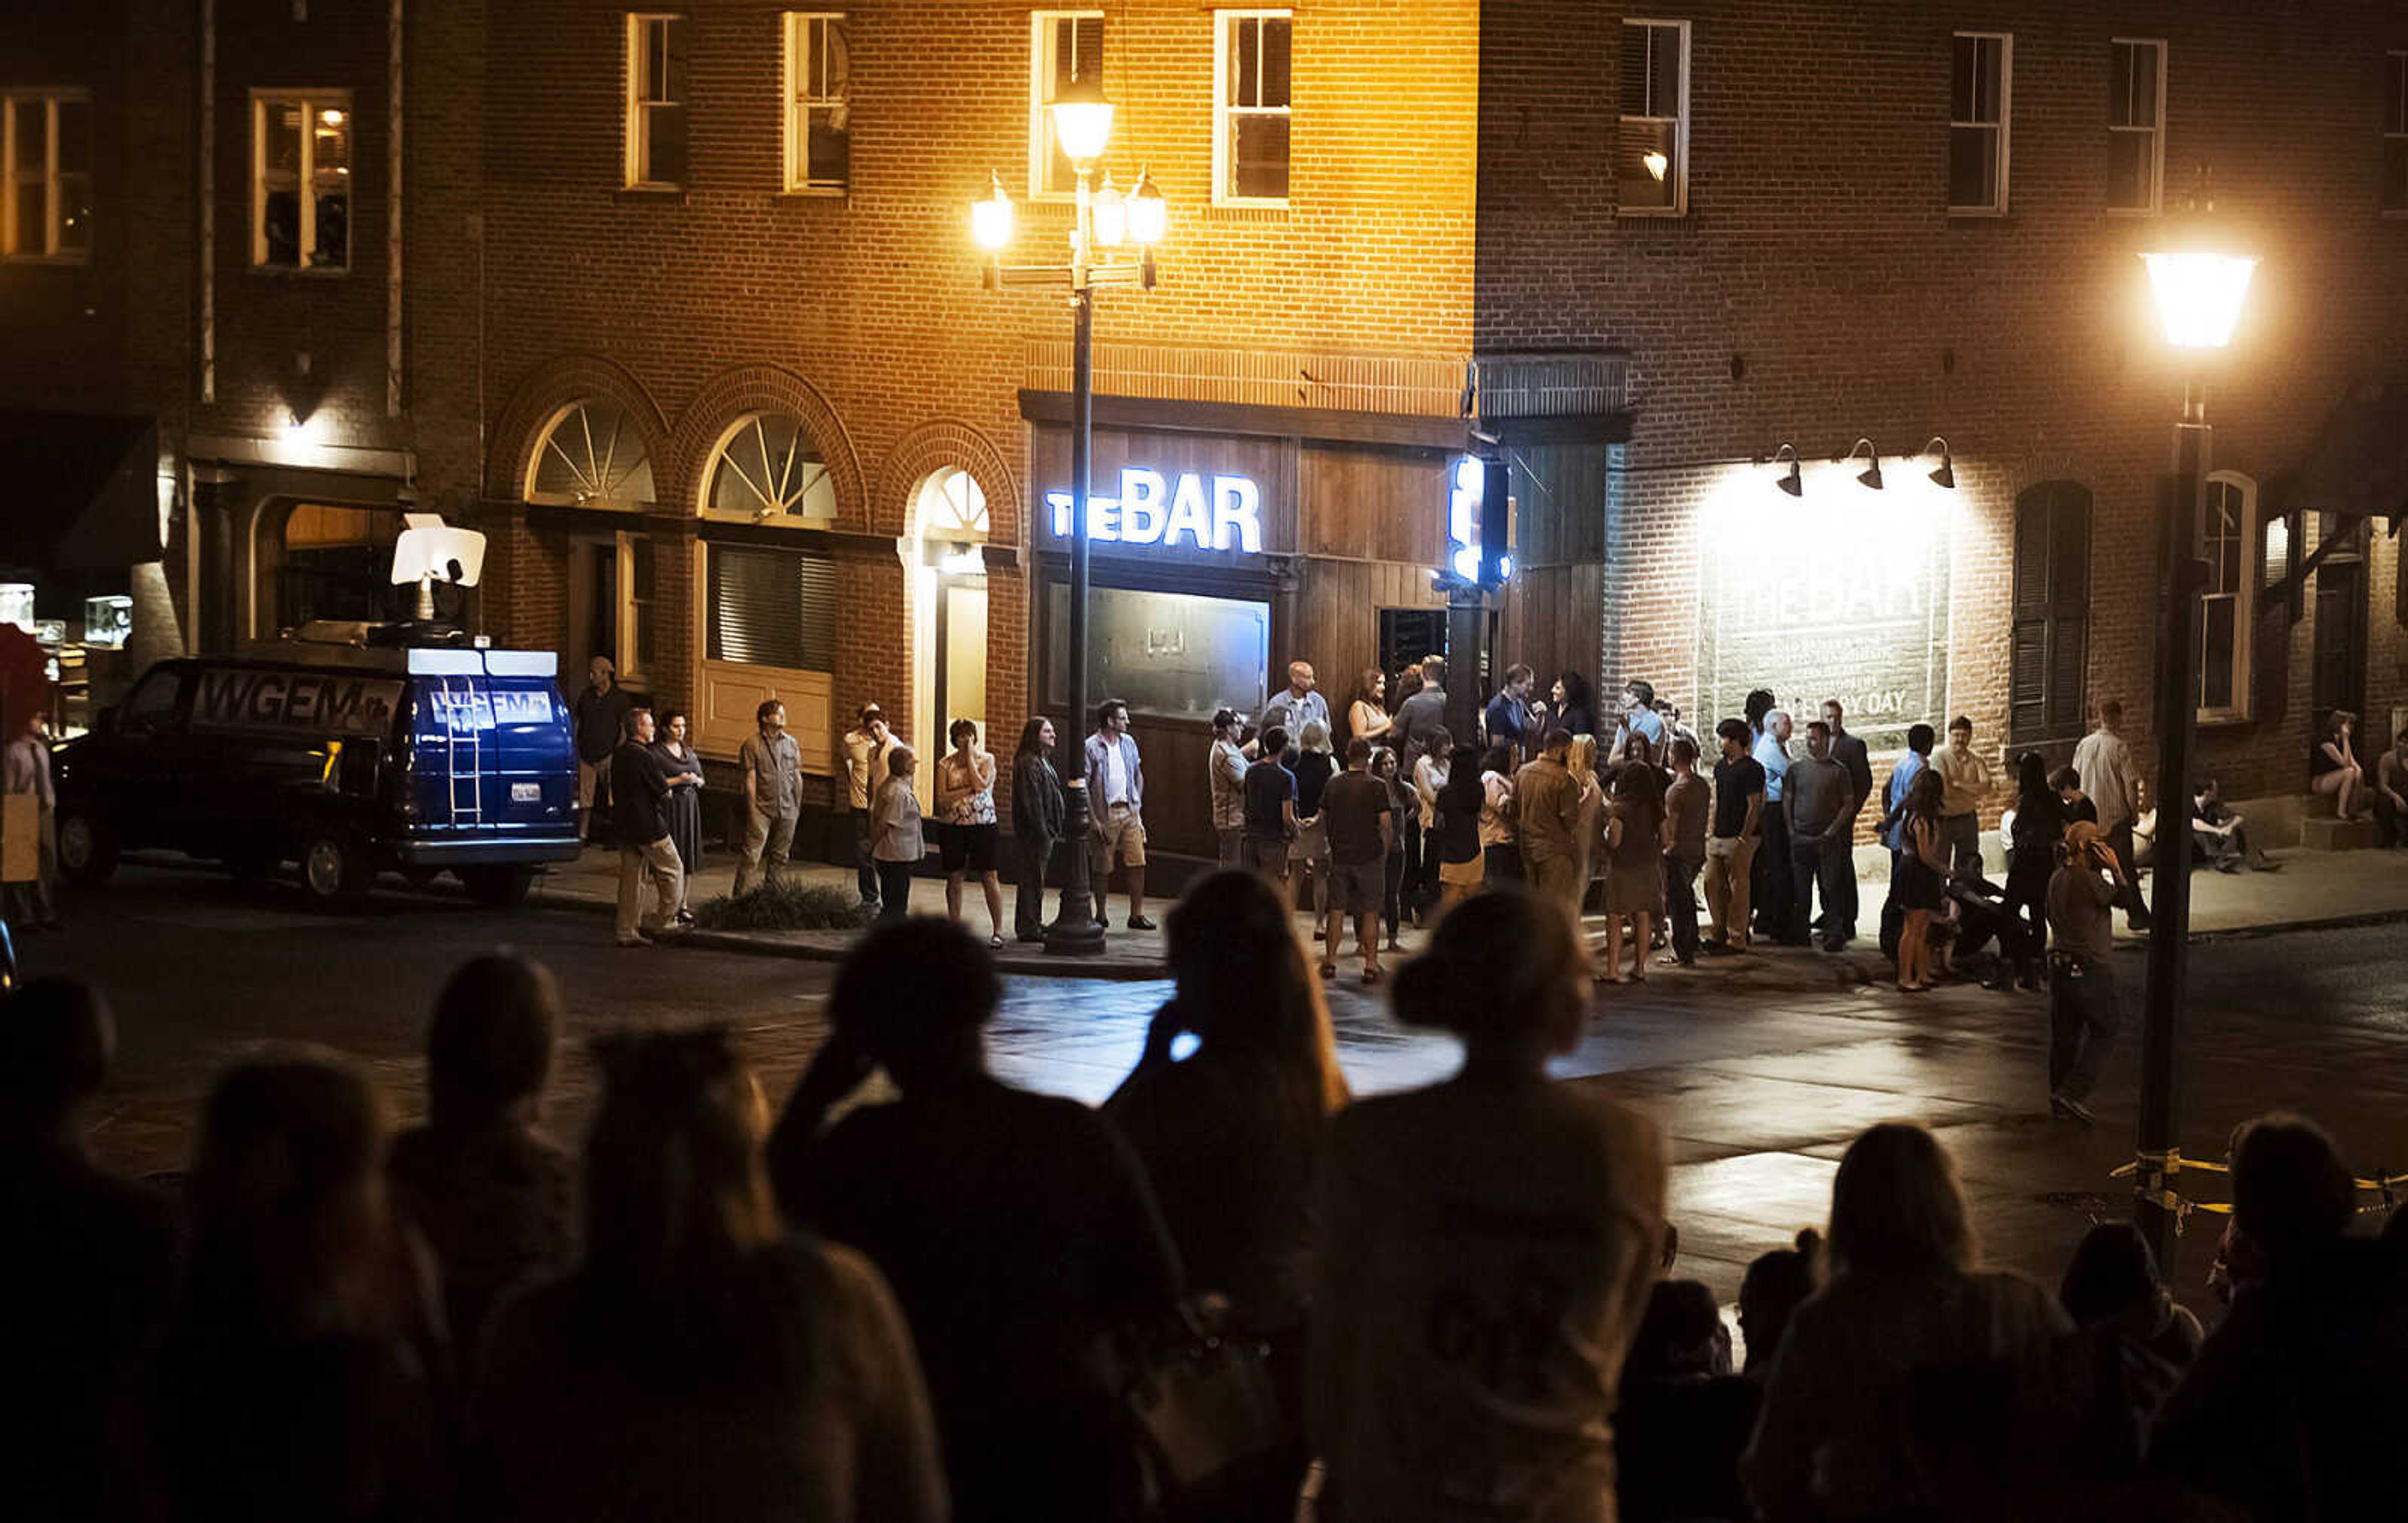
M 510 1299 L 474 1403 L 472 1516 L 944 1518 L 903 1314 L 787 1237 L 761 1085 L 722 1027 L 604 1037 L 585 1261 Z

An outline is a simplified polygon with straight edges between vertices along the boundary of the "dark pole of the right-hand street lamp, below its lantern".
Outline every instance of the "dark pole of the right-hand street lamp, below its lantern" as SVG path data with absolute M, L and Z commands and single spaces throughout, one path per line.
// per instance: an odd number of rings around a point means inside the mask
M 2174 491 L 2165 505 L 2165 669 L 2158 683 L 2158 857 L 2148 931 L 2148 1025 L 2141 1035 L 2141 1157 L 2182 1157 L 2182 1001 L 2191 941 L 2191 731 L 2199 719 L 2199 512 L 2213 438 L 2206 390 L 2184 387 L 2174 426 Z M 2141 1165 L 2143 1189 L 2150 1165 Z M 2165 1169 L 2158 1189 L 2179 1189 L 2182 1172 Z M 2174 1275 L 2179 1215 L 2160 1201 L 2136 1201 L 2136 1222 L 2158 1254 L 2158 1270 Z

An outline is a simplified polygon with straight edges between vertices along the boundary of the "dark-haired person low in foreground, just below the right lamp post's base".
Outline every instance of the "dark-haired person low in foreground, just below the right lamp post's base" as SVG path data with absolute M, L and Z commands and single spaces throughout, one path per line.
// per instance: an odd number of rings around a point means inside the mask
M 2141 1465 L 2150 1420 L 2199 1357 L 2199 1318 L 2158 1280 L 2158 1258 L 2131 1222 L 2083 1234 L 2056 1299 L 2083 1331 L 2090 1369 L 2078 1460 L 2095 1480 L 2121 1480 Z

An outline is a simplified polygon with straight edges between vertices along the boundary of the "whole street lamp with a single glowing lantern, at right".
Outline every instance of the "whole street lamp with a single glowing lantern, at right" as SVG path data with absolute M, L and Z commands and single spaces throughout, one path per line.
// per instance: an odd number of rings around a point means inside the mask
M 2143 253 L 2148 286 L 2174 349 L 2218 351 L 2232 342 L 2242 298 L 2256 260 L 2215 238 L 2213 202 L 2167 219 L 2172 233 L 2162 253 Z M 2158 674 L 2158 859 L 2153 866 L 2148 931 L 2148 1023 L 2141 1035 L 2138 1126 L 2138 1225 L 2158 1254 L 2160 1270 L 2174 1273 L 2174 1234 L 2182 1213 L 2182 1001 L 2191 938 L 2191 731 L 2199 717 L 2199 515 L 2203 505 L 2213 435 L 2206 383 L 2191 363 L 2182 387 L 2182 421 L 2174 423 L 2174 484 L 2160 522 L 2165 565 L 2165 666 Z

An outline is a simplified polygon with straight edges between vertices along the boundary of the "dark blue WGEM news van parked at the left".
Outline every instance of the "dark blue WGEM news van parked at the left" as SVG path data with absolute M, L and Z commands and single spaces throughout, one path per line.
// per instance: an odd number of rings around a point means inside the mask
M 55 753 L 58 864 L 99 883 L 135 847 L 320 902 L 378 871 L 450 871 L 486 905 L 578 854 L 578 755 L 549 650 L 279 640 L 142 674 Z

